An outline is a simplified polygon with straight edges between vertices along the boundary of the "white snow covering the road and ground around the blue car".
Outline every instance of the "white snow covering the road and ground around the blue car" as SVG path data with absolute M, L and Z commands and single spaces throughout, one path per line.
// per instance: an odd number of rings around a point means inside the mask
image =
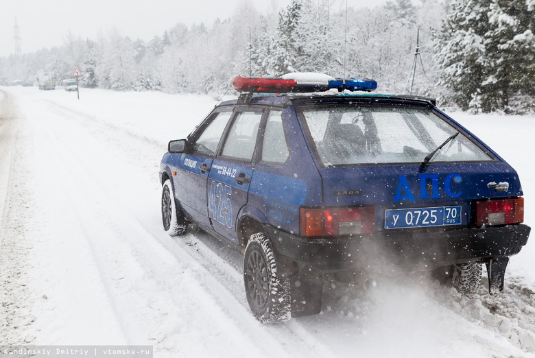
M 534 357 L 535 244 L 506 289 L 462 298 L 419 274 L 331 281 L 319 315 L 263 325 L 242 256 L 195 226 L 171 238 L 158 165 L 211 97 L 0 87 L 0 345 L 152 345 L 155 357 Z M 521 178 L 535 222 L 534 117 L 454 119 Z M 486 273 L 484 273 L 484 276 Z

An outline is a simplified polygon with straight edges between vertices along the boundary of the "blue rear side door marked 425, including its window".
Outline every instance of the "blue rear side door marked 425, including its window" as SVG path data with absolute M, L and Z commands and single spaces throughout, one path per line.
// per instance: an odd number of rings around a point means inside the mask
M 235 243 L 236 218 L 248 200 L 262 116 L 263 108 L 236 110 L 209 173 L 208 208 L 213 228 Z

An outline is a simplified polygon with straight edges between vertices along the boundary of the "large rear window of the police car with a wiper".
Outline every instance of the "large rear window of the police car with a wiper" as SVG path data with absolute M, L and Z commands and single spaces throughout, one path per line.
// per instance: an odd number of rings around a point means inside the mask
M 422 163 L 456 128 L 427 108 L 395 106 L 305 107 L 300 116 L 324 166 Z M 429 163 L 494 160 L 464 134 L 440 148 Z

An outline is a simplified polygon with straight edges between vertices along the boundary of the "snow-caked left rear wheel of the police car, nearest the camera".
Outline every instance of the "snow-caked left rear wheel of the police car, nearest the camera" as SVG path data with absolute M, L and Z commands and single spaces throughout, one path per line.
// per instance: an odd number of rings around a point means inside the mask
M 292 318 L 290 283 L 277 276 L 272 244 L 264 233 L 251 235 L 243 257 L 243 281 L 249 306 L 262 323 Z

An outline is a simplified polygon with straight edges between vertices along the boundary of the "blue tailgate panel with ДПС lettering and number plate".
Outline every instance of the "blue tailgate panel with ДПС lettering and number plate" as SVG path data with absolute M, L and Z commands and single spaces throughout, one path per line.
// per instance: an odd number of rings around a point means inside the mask
M 375 206 L 375 230 L 473 224 L 474 200 L 521 195 L 506 163 L 320 168 L 324 206 Z

